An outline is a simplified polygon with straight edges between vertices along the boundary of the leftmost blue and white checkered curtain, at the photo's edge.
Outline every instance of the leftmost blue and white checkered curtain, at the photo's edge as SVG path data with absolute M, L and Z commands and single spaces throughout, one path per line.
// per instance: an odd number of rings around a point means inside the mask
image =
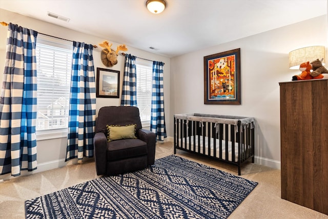
M 37 32 L 8 26 L 7 56 L 0 97 L 0 175 L 36 169 Z

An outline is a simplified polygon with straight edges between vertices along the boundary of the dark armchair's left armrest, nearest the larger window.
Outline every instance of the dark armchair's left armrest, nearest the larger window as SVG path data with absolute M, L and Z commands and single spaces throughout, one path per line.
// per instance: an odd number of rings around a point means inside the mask
M 93 145 L 97 175 L 104 175 L 106 174 L 107 166 L 107 137 L 104 132 L 97 132 L 94 135 Z

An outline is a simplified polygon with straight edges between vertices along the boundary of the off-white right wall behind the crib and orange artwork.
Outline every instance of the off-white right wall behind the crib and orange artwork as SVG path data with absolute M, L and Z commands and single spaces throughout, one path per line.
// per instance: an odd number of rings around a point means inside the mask
M 256 163 L 280 168 L 278 83 L 291 81 L 293 75 L 300 73 L 289 69 L 288 53 L 306 46 L 328 48 L 327 40 L 325 15 L 171 58 L 170 114 L 253 116 L 256 119 Z M 204 105 L 203 57 L 237 48 L 241 50 L 241 105 Z M 172 129 L 169 135 L 173 135 Z

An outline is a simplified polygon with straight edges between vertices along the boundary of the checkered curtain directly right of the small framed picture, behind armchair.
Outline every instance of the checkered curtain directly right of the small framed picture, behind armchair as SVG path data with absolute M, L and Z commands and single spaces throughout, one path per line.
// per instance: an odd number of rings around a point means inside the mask
M 137 106 L 137 75 L 135 66 L 136 58 L 136 56 L 131 54 L 125 54 L 121 106 Z

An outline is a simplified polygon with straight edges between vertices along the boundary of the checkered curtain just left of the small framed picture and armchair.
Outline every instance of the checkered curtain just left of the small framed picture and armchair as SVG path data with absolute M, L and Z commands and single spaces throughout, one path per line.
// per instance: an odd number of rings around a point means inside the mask
M 96 84 L 92 45 L 73 42 L 71 97 L 66 160 L 93 157 Z

